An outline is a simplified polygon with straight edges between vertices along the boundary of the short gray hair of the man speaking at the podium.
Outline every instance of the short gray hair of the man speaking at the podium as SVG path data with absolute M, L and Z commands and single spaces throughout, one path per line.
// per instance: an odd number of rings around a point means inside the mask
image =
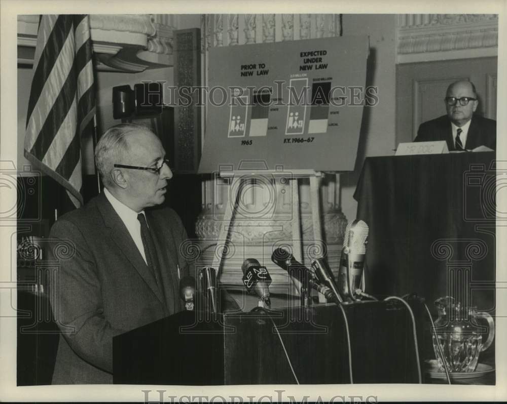
M 111 171 L 115 164 L 125 163 L 123 158 L 130 152 L 127 135 L 134 131 L 151 132 L 151 129 L 137 124 L 118 124 L 105 131 L 95 147 L 95 164 L 106 188 L 114 186 Z

